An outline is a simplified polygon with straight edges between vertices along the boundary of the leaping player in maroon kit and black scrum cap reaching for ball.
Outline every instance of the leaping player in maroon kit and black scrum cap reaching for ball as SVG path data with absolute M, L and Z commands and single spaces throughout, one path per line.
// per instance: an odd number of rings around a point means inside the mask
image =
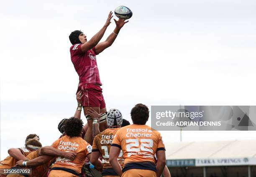
M 104 26 L 90 39 L 87 41 L 87 36 L 79 30 L 73 31 L 69 35 L 69 40 L 72 43 L 70 47 L 71 61 L 74 64 L 74 68 L 79 75 L 79 85 L 77 91 L 82 91 L 84 95 L 82 106 L 84 109 L 84 115 L 87 118 L 88 131 L 86 131 L 85 140 L 92 144 L 92 119 L 87 115 L 87 109 L 92 107 L 95 111 L 102 114 L 100 118 L 100 131 L 107 128 L 105 122 L 105 101 L 102 96 L 102 85 L 100 81 L 99 70 L 97 67 L 96 55 L 104 51 L 106 48 L 110 47 L 115 38 L 118 36 L 120 29 L 128 21 L 125 20 L 115 20 L 115 29 L 108 36 L 108 38 L 99 43 L 103 37 L 108 25 L 111 23 L 110 20 L 113 17 L 112 12 L 108 14 L 108 19 Z

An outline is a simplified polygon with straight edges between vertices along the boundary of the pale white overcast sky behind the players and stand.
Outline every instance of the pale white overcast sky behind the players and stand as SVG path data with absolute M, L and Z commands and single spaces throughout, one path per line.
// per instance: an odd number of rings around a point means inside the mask
M 8 0 L 0 5 L 0 159 L 28 134 L 43 146 L 58 139 L 59 121 L 77 107 L 68 36 L 82 30 L 90 39 L 119 5 L 133 16 L 97 56 L 107 109 L 131 121 L 137 103 L 256 105 L 254 0 Z M 114 28 L 112 20 L 101 41 Z M 179 131 L 161 134 L 180 141 Z M 182 141 L 234 139 L 256 132 L 182 132 Z

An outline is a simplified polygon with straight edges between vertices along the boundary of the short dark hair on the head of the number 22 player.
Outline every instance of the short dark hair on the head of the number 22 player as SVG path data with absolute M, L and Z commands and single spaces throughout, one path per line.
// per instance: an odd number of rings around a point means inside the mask
M 131 119 L 133 124 L 145 125 L 148 121 L 149 110 L 144 104 L 136 104 L 131 110 Z

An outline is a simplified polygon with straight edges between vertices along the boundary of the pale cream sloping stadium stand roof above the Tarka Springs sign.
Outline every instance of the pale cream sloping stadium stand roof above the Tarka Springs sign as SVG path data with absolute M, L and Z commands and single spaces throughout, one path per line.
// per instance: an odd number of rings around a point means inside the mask
M 256 157 L 256 140 L 165 143 L 166 160 Z

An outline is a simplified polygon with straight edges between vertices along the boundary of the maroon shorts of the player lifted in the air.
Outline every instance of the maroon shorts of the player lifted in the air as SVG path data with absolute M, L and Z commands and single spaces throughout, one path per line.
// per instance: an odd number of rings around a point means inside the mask
M 87 107 L 100 107 L 103 109 L 106 107 L 104 97 L 102 95 L 102 88 L 94 83 L 85 83 L 78 86 L 77 92 L 82 91 L 84 96 L 82 97 L 82 106 Z

